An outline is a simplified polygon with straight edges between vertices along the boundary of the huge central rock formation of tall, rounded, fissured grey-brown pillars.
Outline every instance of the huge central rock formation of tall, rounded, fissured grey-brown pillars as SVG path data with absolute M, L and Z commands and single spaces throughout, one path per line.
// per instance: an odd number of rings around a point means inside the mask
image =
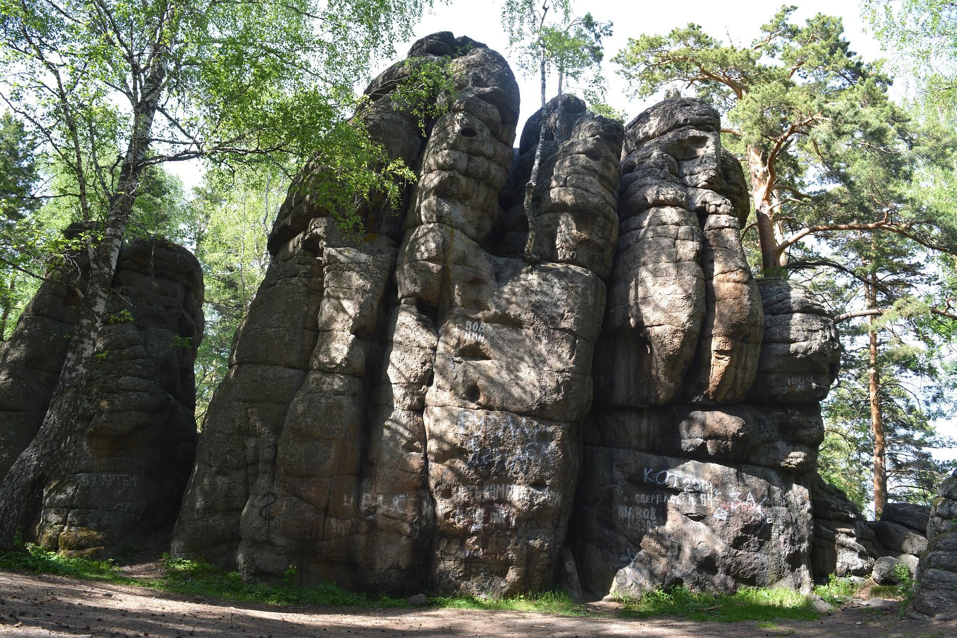
M 420 130 L 392 97 L 442 59 L 456 95 Z M 451 33 L 367 97 L 417 183 L 398 214 L 327 209 L 317 163 L 290 188 L 173 552 L 367 590 L 808 585 L 834 323 L 750 274 L 717 112 L 671 99 L 623 129 L 565 96 L 513 151 L 508 65 Z

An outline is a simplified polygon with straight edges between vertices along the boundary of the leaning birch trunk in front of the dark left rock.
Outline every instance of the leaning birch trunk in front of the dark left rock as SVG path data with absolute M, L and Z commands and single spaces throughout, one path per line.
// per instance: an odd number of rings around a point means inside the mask
M 83 405 L 83 389 L 93 362 L 123 233 L 140 185 L 150 130 L 166 72 L 165 55 L 160 52 L 145 77 L 140 99 L 134 105 L 130 141 L 117 189 L 110 198 L 103 239 L 90 262 L 90 278 L 80 304 L 79 318 L 50 407 L 33 441 L 17 457 L 0 486 L 0 549 L 10 549 L 18 533 L 29 536 L 26 527 L 39 511 L 51 473 L 73 443 L 73 426 Z

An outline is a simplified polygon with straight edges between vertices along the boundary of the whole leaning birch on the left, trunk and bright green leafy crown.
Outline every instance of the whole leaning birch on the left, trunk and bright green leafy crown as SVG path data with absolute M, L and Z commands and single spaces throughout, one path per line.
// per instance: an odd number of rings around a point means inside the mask
M 391 54 L 423 0 L 0 3 L 2 96 L 72 171 L 91 271 L 51 407 L 0 487 L 0 547 L 10 547 L 68 445 L 73 415 L 145 171 L 167 162 L 304 157 L 338 170 L 341 197 L 389 191 L 384 157 L 343 123 L 370 59 Z M 330 209 L 340 209 L 331 188 Z M 96 201 L 106 209 L 94 209 Z M 323 201 L 320 199 L 319 201 Z

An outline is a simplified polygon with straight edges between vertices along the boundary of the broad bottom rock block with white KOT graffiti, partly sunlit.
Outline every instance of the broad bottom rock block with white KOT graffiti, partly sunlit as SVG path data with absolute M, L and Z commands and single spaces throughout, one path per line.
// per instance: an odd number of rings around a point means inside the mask
M 595 593 L 810 583 L 811 502 L 796 476 L 598 446 L 583 470 L 571 534 Z

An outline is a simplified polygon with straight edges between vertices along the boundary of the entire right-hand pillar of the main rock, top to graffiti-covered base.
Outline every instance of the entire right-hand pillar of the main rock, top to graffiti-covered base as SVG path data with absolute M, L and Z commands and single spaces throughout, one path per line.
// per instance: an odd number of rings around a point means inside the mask
M 801 288 L 751 276 L 744 175 L 719 130 L 693 99 L 626 128 L 569 532 L 598 596 L 811 584 L 807 473 L 837 371 L 834 321 Z M 773 376 L 789 371 L 804 376 Z

